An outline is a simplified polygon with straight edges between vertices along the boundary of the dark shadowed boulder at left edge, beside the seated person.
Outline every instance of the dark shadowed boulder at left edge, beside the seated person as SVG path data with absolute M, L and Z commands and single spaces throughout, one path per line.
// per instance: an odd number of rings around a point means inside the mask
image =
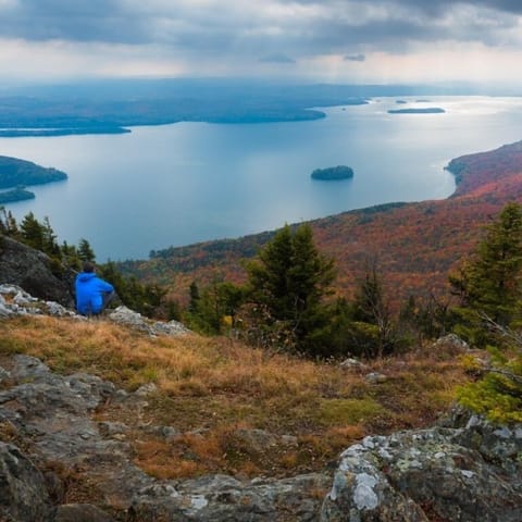
M 49 257 L 0 236 L 0 284 L 17 285 L 42 300 L 73 307 L 74 274 L 53 268 Z

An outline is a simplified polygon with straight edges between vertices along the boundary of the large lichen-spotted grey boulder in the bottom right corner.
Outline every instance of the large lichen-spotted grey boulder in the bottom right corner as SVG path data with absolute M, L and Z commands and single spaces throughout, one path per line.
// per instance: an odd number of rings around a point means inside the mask
M 477 417 L 449 425 L 348 448 L 321 521 L 521 521 L 522 426 Z

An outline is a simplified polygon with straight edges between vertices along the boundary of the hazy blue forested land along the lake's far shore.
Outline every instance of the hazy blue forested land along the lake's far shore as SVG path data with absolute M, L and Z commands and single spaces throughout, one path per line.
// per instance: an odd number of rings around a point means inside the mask
M 20 88 L 0 96 L 0 137 L 121 134 L 178 122 L 268 123 L 325 117 L 368 103 L 372 89 L 212 79 L 105 80 Z

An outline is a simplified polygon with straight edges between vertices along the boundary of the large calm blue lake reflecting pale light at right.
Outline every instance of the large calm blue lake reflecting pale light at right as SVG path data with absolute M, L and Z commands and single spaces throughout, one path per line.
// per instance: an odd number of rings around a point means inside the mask
M 382 98 L 326 109 L 313 122 L 136 127 L 130 134 L 2 138 L 0 154 L 65 171 L 9 206 L 49 216 L 60 240 L 87 238 L 108 258 L 237 237 L 390 201 L 448 197 L 455 157 L 522 139 L 522 98 Z M 440 107 L 444 114 L 388 114 Z M 346 164 L 355 177 L 312 181 Z

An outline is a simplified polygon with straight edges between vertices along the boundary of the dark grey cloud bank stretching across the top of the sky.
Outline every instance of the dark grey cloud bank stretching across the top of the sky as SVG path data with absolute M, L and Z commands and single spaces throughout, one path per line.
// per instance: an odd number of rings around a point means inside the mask
M 0 36 L 36 41 L 158 44 L 178 52 L 236 52 L 261 55 L 266 61 L 270 57 L 328 53 L 357 57 L 370 50 L 401 52 L 411 42 L 445 39 L 505 45 L 505 32 L 517 26 L 514 13 L 522 13 L 520 0 L 252 3 L 0 0 Z

